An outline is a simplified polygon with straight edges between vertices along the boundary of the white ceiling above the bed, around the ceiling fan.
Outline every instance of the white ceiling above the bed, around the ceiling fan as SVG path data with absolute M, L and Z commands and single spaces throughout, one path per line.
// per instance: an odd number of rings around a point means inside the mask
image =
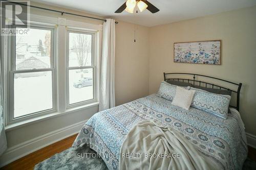
M 32 0 L 34 2 L 83 10 L 117 20 L 136 22 L 139 25 L 153 27 L 165 23 L 216 14 L 224 11 L 256 5 L 256 0 L 148 0 L 160 9 L 152 14 L 145 10 L 142 13 L 130 14 L 126 11 L 114 12 L 125 0 Z

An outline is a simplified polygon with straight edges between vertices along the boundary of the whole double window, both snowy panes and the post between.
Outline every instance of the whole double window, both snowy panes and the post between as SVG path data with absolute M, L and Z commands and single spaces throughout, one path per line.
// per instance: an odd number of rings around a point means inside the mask
M 1 41 L 6 125 L 97 102 L 100 35 L 77 25 L 31 22 L 27 34 L 17 31 Z

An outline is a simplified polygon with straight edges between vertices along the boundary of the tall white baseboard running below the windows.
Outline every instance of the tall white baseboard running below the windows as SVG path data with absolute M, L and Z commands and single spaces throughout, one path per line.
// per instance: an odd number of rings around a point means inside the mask
M 84 120 L 74 125 L 58 129 L 56 131 L 38 136 L 36 138 L 8 148 L 7 151 L 0 157 L 0 167 L 5 166 L 41 148 L 47 147 L 52 143 L 55 143 L 59 140 L 65 139 L 78 133 L 86 122 L 87 120 Z

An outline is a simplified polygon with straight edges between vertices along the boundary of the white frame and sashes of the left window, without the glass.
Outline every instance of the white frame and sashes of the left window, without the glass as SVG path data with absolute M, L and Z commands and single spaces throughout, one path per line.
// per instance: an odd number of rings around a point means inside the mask
M 18 27 L 22 28 L 22 27 Z M 7 43 L 9 45 L 6 46 L 7 53 L 9 52 L 9 56 L 7 58 L 7 75 L 8 80 L 7 86 L 9 84 L 8 95 L 8 112 L 6 114 L 6 124 L 14 124 L 18 122 L 23 122 L 28 119 L 32 119 L 38 116 L 50 114 L 57 111 L 57 87 L 56 87 L 56 27 L 54 25 L 49 25 L 47 23 L 30 23 L 30 28 L 32 29 L 40 29 L 40 30 L 50 30 L 51 31 L 51 66 L 49 68 L 38 68 L 38 69 L 19 69 L 16 70 L 16 36 L 7 37 Z M 9 41 L 9 42 L 8 42 Z M 52 108 L 47 110 L 42 110 L 34 113 L 30 113 L 24 116 L 15 117 L 14 118 L 14 74 L 25 73 L 25 72 L 40 72 L 40 71 L 51 71 L 52 72 Z M 8 97 L 7 97 L 8 99 Z M 8 114 L 9 113 L 9 114 Z

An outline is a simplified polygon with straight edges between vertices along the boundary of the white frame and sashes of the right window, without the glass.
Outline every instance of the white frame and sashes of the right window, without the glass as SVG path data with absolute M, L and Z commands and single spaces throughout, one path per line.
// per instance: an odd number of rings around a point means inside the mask
M 91 66 L 69 66 L 69 33 L 87 34 L 92 35 L 92 65 Z M 98 101 L 98 51 L 97 51 L 97 31 L 92 31 L 82 28 L 67 28 L 67 41 L 66 41 L 66 106 L 67 109 L 74 108 L 86 104 L 91 104 Z M 70 104 L 69 101 L 69 70 L 75 69 L 93 69 L 93 99 Z

